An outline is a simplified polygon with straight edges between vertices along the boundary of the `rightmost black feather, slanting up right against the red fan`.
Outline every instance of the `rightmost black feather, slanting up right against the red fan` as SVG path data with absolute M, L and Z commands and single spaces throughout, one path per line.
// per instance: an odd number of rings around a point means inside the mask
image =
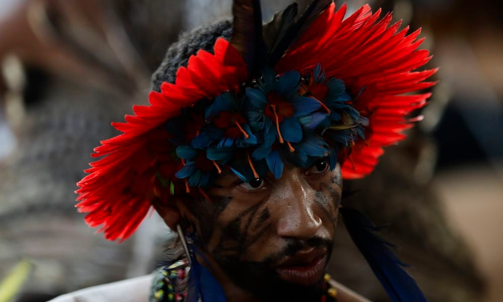
M 282 18 L 284 19 L 284 21 L 281 23 L 281 28 L 278 31 L 279 34 L 277 36 L 276 43 L 270 49 L 266 63 L 269 66 L 274 66 L 276 62 L 283 56 L 283 53 L 298 39 L 298 37 L 300 37 L 300 35 L 307 29 L 311 22 L 321 12 L 323 12 L 330 5 L 330 3 L 332 3 L 332 0 L 314 0 L 306 9 L 304 14 L 302 14 L 302 16 L 296 22 L 295 20 L 287 19 L 291 18 L 291 14 L 293 13 L 293 11 L 288 11 L 289 9 L 293 10 L 290 8 L 291 6 L 289 6 L 285 10 L 288 15 Z M 295 11 L 295 16 L 293 16 L 293 18 L 295 18 L 296 15 L 297 12 Z

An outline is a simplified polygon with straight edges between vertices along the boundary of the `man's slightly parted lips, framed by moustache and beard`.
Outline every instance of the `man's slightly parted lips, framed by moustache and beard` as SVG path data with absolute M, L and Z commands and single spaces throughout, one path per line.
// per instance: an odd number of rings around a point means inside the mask
M 326 260 L 325 249 L 312 249 L 289 257 L 276 267 L 276 272 L 285 281 L 309 286 L 321 279 Z

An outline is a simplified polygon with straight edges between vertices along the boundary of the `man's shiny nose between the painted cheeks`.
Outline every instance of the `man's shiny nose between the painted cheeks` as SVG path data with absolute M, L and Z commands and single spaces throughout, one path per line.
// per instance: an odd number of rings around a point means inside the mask
M 316 192 L 295 170 L 284 171 L 277 188 L 281 211 L 277 233 L 283 238 L 310 239 L 321 226 L 321 218 L 313 212 Z

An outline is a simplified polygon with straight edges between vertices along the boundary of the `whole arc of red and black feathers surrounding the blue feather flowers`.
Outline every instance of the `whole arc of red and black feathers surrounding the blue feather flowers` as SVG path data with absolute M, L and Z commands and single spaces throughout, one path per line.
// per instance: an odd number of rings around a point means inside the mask
M 352 143 L 342 166 L 346 179 L 371 173 L 383 147 L 405 137 L 402 131 L 413 121 L 408 115 L 430 97 L 410 94 L 435 84 L 423 81 L 437 69 L 413 71 L 431 58 L 428 50 L 417 50 L 423 41 L 417 40 L 420 30 L 408 35 L 408 27 L 398 31 L 401 22 L 390 25 L 391 14 L 380 18 L 381 10 L 372 13 L 365 5 L 344 19 L 346 5 L 336 10 L 331 1 L 314 1 L 302 16 L 297 17 L 297 6 L 291 5 L 273 19 L 278 26 L 262 27 L 260 9 L 243 9 L 239 3 L 234 3 L 231 40 L 219 38 L 213 53 L 200 50 L 191 56 L 177 71 L 174 84 L 163 83 L 160 93 L 150 93 L 150 106 L 134 106 L 134 115 L 127 115 L 125 123 L 113 123 L 123 134 L 95 149 L 92 156 L 103 158 L 92 163 L 89 175 L 78 183 L 77 207 L 88 213 L 91 226 L 101 226 L 107 239 L 128 238 L 153 199 L 168 202 L 173 191 L 185 192 L 183 182 L 173 181 L 184 163 L 169 143 L 164 123 L 201 99 L 257 80 L 263 66 L 283 74 L 320 64 L 327 77 L 344 81 L 355 97 L 352 105 L 369 121 L 365 138 Z M 256 20 L 252 26 L 245 22 L 250 18 Z

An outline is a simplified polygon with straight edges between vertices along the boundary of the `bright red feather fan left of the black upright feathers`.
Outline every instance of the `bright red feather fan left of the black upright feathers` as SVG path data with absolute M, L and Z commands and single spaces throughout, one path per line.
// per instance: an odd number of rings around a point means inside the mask
M 169 199 L 169 189 L 159 189 L 159 175 L 169 179 L 181 168 L 171 158 L 173 146 L 162 124 L 181 109 L 205 97 L 215 97 L 238 88 L 247 79 L 239 53 L 224 39 L 215 42 L 214 54 L 200 50 L 187 67 L 177 72 L 175 84 L 163 83 L 161 93 L 151 92 L 150 106 L 134 106 L 125 123 L 113 123 L 123 134 L 102 141 L 93 157 L 90 173 L 80 187 L 76 205 L 89 213 L 90 226 L 101 225 L 109 240 L 128 238 L 148 213 L 155 198 Z M 165 185 L 165 184 L 164 184 Z

